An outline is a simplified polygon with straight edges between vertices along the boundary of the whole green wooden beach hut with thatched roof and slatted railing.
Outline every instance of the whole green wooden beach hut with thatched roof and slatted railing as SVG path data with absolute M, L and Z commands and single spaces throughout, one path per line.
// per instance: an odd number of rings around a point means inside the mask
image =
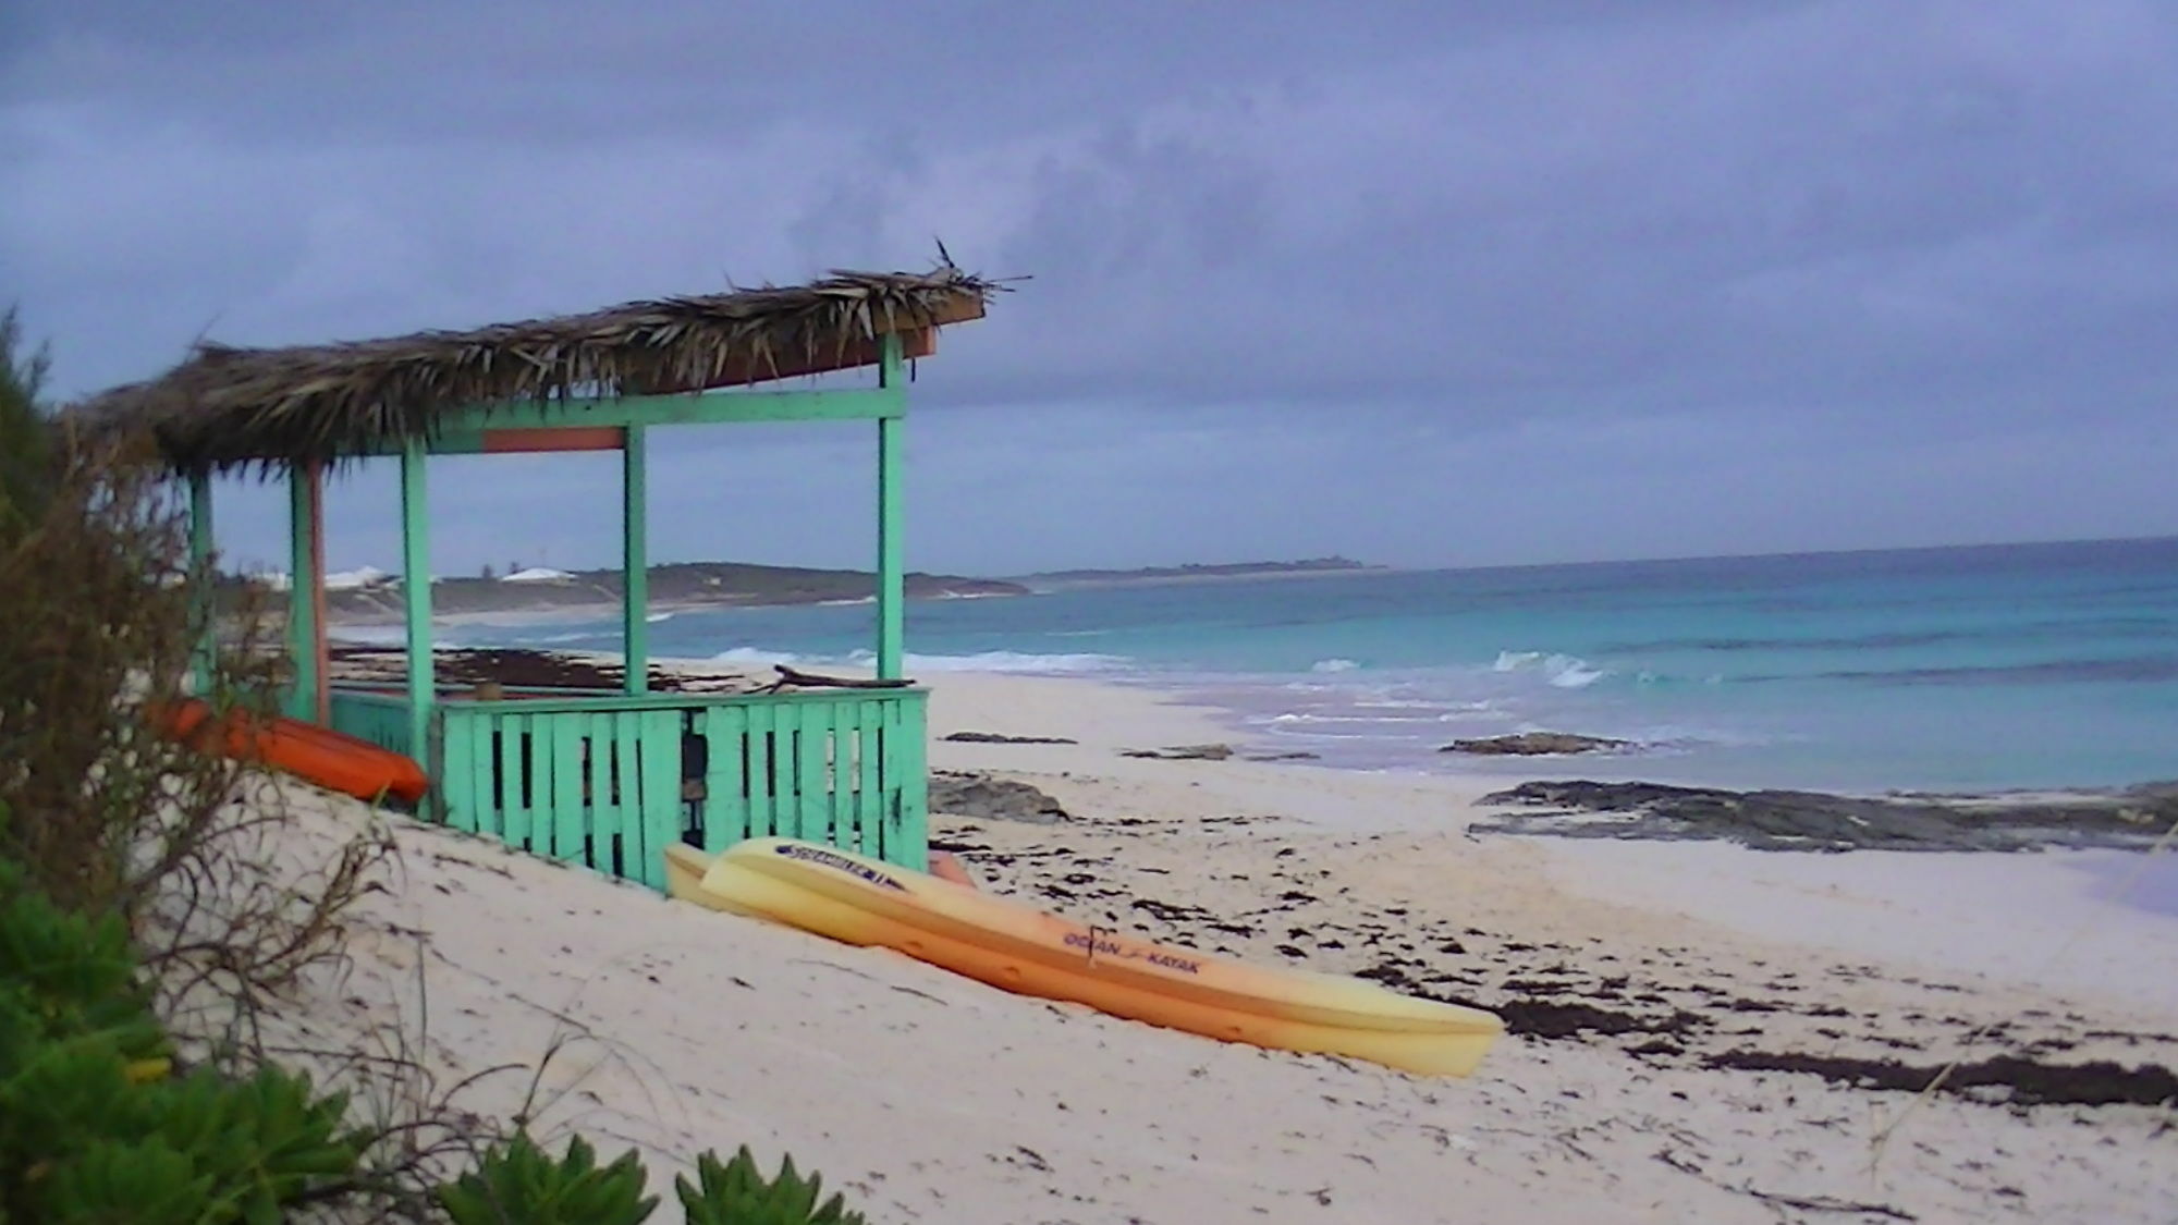
M 943 262 L 468 331 L 205 342 L 172 371 L 65 412 L 89 432 L 150 434 L 187 482 L 198 560 L 211 549 L 211 475 L 287 480 L 287 711 L 416 756 L 438 820 L 656 887 L 673 839 L 723 850 L 741 837 L 812 837 L 923 868 L 926 693 L 900 671 L 906 362 L 932 355 L 941 327 L 982 318 L 1000 290 Z M 778 386 L 856 368 L 876 368 L 876 386 Z M 647 434 L 734 421 L 876 423 L 876 674 L 889 684 L 647 693 Z M 436 684 L 429 456 L 523 451 L 621 453 L 621 693 L 481 700 Z M 407 682 L 392 693 L 327 676 L 322 480 L 370 456 L 401 460 Z

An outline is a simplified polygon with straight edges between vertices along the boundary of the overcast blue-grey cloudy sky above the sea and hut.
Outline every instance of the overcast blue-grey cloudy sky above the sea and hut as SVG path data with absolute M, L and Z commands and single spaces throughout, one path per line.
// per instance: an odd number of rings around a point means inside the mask
M 934 238 L 1032 279 L 921 366 L 917 569 L 2178 532 L 2169 0 L 0 2 L 63 395 Z M 867 565 L 871 434 L 656 436 L 653 556 Z M 436 464 L 436 569 L 610 565 L 616 473 Z

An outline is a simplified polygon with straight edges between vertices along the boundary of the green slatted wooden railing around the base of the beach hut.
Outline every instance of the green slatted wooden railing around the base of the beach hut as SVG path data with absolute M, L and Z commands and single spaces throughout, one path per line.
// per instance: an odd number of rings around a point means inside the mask
M 436 815 L 534 854 L 664 887 L 664 848 L 802 837 L 923 870 L 921 689 L 438 702 L 342 691 L 333 726 L 425 761 Z

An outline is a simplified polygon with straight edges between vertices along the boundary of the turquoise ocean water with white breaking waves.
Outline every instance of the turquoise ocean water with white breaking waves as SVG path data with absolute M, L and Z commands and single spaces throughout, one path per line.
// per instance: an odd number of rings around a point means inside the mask
M 910 671 L 1085 674 L 1361 769 L 1821 789 L 2178 778 L 2178 538 L 1056 589 L 908 606 Z M 614 621 L 462 645 L 619 650 Z M 658 656 L 867 660 L 869 604 L 677 612 Z M 1477 761 L 1529 728 L 1640 754 Z M 1037 728 L 993 728 L 1035 732 Z

